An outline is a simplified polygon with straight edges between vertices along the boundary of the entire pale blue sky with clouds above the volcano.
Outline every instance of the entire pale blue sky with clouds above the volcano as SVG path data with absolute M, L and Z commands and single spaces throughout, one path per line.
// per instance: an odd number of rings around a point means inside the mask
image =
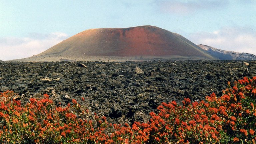
M 0 60 L 39 54 L 87 29 L 141 25 L 256 55 L 256 0 L 0 0 Z

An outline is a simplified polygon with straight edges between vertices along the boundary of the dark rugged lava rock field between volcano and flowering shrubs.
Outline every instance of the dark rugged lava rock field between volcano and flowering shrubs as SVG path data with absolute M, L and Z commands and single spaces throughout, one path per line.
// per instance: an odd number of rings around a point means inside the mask
M 132 124 L 161 102 L 219 96 L 227 81 L 255 75 L 254 61 L 0 62 L 0 91 L 15 91 L 22 104 L 44 93 L 61 106 L 76 99 L 110 122 Z

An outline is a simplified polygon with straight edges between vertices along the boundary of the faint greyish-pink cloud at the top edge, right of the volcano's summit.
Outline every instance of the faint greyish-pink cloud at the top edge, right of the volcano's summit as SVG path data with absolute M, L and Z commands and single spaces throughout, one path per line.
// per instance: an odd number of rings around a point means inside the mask
M 158 8 L 167 13 L 193 14 L 198 10 L 221 9 L 229 3 L 228 0 L 163 0 L 156 1 Z

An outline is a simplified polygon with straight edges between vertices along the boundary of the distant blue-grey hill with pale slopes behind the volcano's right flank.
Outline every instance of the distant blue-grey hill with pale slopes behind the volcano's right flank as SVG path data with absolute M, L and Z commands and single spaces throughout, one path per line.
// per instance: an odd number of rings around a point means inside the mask
M 209 52 L 213 57 L 217 57 L 220 60 L 256 60 L 256 56 L 249 53 L 225 51 L 202 44 L 198 46 L 203 50 Z

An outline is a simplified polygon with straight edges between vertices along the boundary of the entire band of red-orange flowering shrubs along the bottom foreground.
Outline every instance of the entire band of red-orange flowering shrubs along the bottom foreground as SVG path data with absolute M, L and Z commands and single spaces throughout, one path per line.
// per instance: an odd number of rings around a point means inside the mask
M 0 143 L 255 143 L 256 77 L 235 82 L 200 102 L 162 103 L 148 123 L 108 123 L 76 100 L 56 107 L 49 95 L 22 107 L 15 93 L 0 93 Z M 84 98 L 82 98 L 84 100 Z M 90 116 L 90 117 L 89 117 Z M 93 118 L 92 118 L 93 117 Z

